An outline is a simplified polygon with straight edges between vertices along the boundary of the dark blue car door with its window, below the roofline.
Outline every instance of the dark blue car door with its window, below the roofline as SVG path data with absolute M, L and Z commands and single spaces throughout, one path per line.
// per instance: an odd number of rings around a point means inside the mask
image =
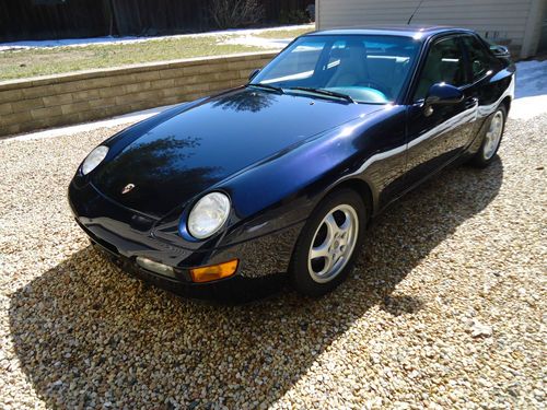
M 457 104 L 426 107 L 431 85 L 454 85 L 463 91 Z M 407 180 L 415 185 L 454 160 L 464 149 L 477 115 L 477 97 L 469 79 L 461 39 L 450 35 L 433 40 L 415 78 L 407 112 Z

